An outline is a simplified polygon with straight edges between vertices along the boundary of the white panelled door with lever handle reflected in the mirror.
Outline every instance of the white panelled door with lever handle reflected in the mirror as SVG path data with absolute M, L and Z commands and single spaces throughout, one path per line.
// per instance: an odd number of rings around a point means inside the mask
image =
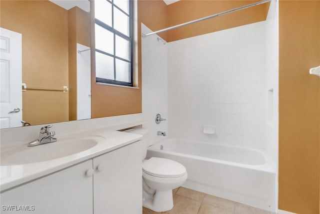
M 21 126 L 22 36 L 0 28 L 0 128 Z

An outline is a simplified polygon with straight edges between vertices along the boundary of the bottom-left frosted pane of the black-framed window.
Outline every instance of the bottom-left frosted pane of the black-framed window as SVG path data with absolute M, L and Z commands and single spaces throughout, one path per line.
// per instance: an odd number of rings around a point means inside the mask
M 113 57 L 95 52 L 95 77 L 114 80 Z

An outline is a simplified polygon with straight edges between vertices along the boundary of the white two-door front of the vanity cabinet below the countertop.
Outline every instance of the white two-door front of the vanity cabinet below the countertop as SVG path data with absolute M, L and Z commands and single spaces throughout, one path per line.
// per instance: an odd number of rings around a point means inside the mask
M 1 213 L 140 214 L 141 150 L 137 141 L 4 191 Z

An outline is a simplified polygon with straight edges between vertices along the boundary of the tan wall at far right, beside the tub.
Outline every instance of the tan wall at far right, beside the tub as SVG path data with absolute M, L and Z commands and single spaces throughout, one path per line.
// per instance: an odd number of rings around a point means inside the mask
M 319 213 L 320 1 L 279 2 L 279 208 Z

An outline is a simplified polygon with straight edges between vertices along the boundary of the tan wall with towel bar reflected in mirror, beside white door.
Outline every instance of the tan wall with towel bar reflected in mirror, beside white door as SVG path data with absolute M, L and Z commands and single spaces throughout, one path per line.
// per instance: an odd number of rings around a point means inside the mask
M 67 12 L 48 1 L 0 4 L 1 28 L 22 34 L 22 82 L 29 88 L 67 86 Z M 68 94 L 31 90 L 22 93 L 22 119 L 32 125 L 67 121 L 67 109 Z

